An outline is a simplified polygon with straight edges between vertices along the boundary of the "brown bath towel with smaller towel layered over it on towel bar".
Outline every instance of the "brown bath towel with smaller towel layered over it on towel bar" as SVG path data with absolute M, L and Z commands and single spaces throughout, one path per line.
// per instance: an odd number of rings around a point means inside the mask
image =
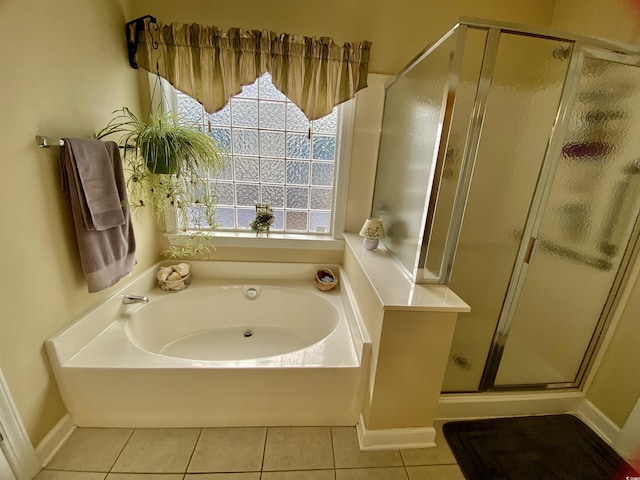
M 75 156 L 76 152 L 81 159 Z M 109 168 L 105 167 L 105 155 Z M 102 165 L 95 168 L 80 166 L 90 162 L 92 158 Z M 60 149 L 60 164 L 63 184 L 68 185 L 80 261 L 87 286 L 90 293 L 98 292 L 115 285 L 118 280 L 131 273 L 136 263 L 136 242 L 120 151 L 115 142 L 65 138 L 64 147 Z M 109 178 L 101 182 L 96 178 L 97 171 L 101 172 L 99 175 Z M 83 182 L 82 175 L 87 172 L 88 177 Z M 110 187 L 100 186 L 95 189 L 96 192 L 93 191 L 98 183 L 114 185 L 119 215 L 118 212 L 114 213 L 114 198 L 109 198 Z M 92 208 L 95 208 L 95 212 Z M 118 223 L 119 216 L 122 223 Z

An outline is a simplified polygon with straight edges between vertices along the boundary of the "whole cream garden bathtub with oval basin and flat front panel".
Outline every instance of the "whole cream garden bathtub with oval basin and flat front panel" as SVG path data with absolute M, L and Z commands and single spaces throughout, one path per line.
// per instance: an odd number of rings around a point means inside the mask
M 175 293 L 149 269 L 46 342 L 74 423 L 354 425 L 370 342 L 344 273 L 324 292 L 317 268 L 192 262 Z

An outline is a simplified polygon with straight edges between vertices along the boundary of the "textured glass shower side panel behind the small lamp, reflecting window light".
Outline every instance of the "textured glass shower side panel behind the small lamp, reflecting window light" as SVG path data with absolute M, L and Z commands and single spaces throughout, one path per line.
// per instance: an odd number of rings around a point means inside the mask
M 385 246 L 412 275 L 456 38 L 454 33 L 414 64 L 385 96 L 373 215 L 382 219 Z

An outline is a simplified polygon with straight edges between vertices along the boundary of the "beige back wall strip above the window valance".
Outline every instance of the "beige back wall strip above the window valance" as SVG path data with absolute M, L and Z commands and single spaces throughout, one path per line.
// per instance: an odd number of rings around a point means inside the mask
M 136 0 L 133 14 L 151 14 L 165 23 L 329 36 L 339 43 L 370 40 L 370 71 L 393 75 L 460 16 L 548 26 L 553 5 L 554 0 Z

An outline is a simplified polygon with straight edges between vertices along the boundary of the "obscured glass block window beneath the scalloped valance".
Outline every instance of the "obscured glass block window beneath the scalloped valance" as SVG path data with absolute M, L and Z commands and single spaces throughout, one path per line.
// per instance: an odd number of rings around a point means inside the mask
M 269 73 L 212 115 L 174 92 L 178 112 L 229 152 L 226 168 L 209 175 L 216 230 L 250 231 L 255 205 L 262 203 L 273 209 L 272 232 L 331 234 L 339 107 L 309 121 Z M 187 228 L 210 226 L 194 221 Z

